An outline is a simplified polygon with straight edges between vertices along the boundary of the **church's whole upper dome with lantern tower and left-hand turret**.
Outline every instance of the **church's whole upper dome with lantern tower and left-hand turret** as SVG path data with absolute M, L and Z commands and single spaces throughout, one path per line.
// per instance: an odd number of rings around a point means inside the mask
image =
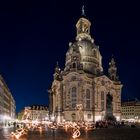
M 74 65 L 77 69 L 81 69 L 82 66 L 82 70 L 89 74 L 102 74 L 102 56 L 99 46 L 95 45 L 94 39 L 90 36 L 90 25 L 90 21 L 84 17 L 78 20 L 76 41 L 69 43 L 65 70 L 73 69 Z

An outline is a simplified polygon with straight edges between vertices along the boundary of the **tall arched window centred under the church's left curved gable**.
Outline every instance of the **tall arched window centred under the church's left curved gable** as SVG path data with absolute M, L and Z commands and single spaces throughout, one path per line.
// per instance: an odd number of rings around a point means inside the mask
M 75 108 L 77 103 L 76 87 L 73 87 L 71 90 L 71 102 L 72 108 Z

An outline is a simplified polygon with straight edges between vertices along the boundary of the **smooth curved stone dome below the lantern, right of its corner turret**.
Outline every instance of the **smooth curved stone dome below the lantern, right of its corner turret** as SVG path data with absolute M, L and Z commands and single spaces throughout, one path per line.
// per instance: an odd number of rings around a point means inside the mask
M 77 42 L 81 55 L 83 70 L 91 74 L 102 73 L 102 56 L 99 47 L 90 40 L 81 40 Z

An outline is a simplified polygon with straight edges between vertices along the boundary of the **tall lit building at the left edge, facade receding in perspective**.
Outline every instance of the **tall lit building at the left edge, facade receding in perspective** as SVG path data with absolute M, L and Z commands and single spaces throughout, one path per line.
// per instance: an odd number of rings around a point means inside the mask
M 0 125 L 7 125 L 9 121 L 15 119 L 15 100 L 0 75 Z

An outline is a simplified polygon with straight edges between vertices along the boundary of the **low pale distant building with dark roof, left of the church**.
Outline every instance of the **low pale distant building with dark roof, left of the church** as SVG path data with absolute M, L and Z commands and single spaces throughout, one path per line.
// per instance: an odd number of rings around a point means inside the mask
M 29 119 L 32 121 L 49 120 L 48 107 L 42 106 L 42 105 L 32 105 L 32 106 L 25 107 L 24 110 L 22 110 L 18 113 L 18 120 L 25 120 L 25 119 Z

